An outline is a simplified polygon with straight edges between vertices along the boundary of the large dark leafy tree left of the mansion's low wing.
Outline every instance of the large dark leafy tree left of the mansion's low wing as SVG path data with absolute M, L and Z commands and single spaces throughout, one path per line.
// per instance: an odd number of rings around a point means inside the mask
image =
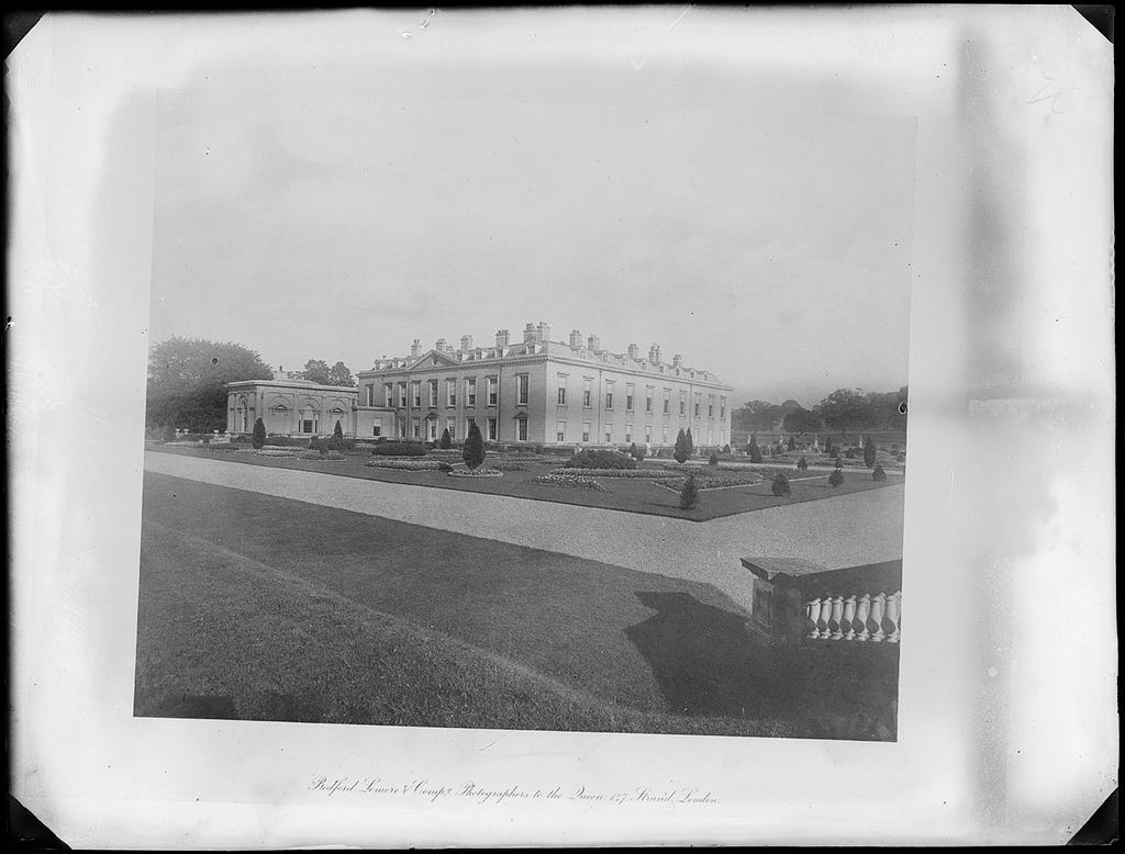
M 226 384 L 272 379 L 261 356 L 241 344 L 168 338 L 148 353 L 146 424 L 173 424 L 192 433 L 224 430 Z

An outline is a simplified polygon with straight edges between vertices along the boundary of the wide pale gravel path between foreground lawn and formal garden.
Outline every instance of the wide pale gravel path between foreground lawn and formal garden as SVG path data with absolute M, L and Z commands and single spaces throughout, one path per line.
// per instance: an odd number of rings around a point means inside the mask
M 145 469 L 706 581 L 747 609 L 744 555 L 803 557 L 828 569 L 902 556 L 902 484 L 698 523 L 152 452 L 145 453 Z

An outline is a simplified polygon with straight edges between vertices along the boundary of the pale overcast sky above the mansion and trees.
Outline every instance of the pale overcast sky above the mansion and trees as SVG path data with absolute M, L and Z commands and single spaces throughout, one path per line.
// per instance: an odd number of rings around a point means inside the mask
M 907 382 L 912 117 L 822 109 L 816 80 L 752 109 L 737 65 L 458 56 L 163 90 L 152 340 L 356 371 L 543 320 L 658 343 L 739 402 Z

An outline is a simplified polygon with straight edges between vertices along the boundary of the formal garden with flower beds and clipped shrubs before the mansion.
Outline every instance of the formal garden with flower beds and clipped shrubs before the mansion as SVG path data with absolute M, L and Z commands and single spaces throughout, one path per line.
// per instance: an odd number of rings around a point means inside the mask
M 168 434 L 148 443 L 164 453 L 331 472 L 392 483 L 511 496 L 706 520 L 902 483 L 904 452 L 826 443 L 735 451 L 695 448 L 682 431 L 672 448 L 500 445 L 479 431 L 454 444 L 330 437 Z M 890 476 L 889 476 L 890 475 Z

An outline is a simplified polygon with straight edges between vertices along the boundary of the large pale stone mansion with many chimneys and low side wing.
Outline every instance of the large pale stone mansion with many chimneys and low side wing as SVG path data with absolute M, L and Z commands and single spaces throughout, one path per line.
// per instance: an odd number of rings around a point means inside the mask
M 507 329 L 486 347 L 462 336 L 439 338 L 408 356 L 358 371 L 359 388 L 299 380 L 246 380 L 228 385 L 227 430 L 246 433 L 262 418 L 272 434 L 462 440 L 476 423 L 487 440 L 536 445 L 670 445 L 691 428 L 696 446 L 730 442 L 732 391 L 678 355 L 665 362 L 652 345 L 604 349 L 595 335 L 566 342 L 549 324 L 528 324 L 512 344 Z

